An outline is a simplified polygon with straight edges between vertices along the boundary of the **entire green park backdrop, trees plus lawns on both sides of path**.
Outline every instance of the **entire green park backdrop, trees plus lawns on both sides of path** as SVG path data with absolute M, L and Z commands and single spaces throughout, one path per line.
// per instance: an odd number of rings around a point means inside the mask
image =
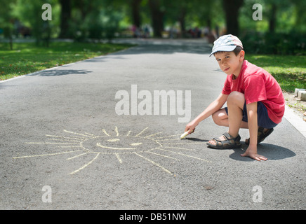
M 44 3 L 52 20 L 42 19 Z M 0 80 L 132 46 L 114 43 L 119 38 L 203 38 L 212 45 L 234 34 L 248 61 L 294 92 L 306 87 L 305 10 L 300 0 L 1 0 Z M 306 110 L 300 102 L 289 106 Z

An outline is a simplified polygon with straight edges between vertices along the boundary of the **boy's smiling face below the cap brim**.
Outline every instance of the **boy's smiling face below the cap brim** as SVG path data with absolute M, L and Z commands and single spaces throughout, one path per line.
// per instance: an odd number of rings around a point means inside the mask
M 244 61 L 244 50 L 241 50 L 236 56 L 234 52 L 215 52 L 215 59 L 217 60 L 220 69 L 227 75 L 239 76 L 242 62 Z

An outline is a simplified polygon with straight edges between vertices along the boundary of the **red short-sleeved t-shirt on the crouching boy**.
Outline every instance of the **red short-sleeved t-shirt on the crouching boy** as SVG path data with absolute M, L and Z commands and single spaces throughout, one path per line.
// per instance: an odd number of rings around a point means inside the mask
M 241 92 L 246 104 L 262 102 L 267 107 L 269 118 L 276 124 L 281 122 L 285 111 L 285 99 L 279 83 L 269 72 L 244 60 L 239 76 L 235 80 L 232 76 L 227 76 L 222 94 Z

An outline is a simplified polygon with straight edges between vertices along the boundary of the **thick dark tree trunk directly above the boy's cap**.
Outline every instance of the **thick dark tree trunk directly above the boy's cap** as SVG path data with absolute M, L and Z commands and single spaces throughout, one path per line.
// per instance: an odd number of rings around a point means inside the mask
M 225 19 L 227 34 L 239 35 L 239 8 L 244 3 L 244 0 L 223 0 L 225 10 Z

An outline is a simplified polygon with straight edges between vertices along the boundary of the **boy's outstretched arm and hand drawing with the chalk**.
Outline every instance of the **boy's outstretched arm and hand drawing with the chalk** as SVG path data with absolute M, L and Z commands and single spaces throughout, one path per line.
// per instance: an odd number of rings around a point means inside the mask
M 199 123 L 202 120 L 205 120 L 209 116 L 211 116 L 215 111 L 218 111 L 221 109 L 221 107 L 225 104 L 227 101 L 227 94 L 220 94 L 217 99 L 215 99 L 209 106 L 197 116 L 197 118 L 194 118 L 192 122 L 190 122 L 188 125 L 186 125 L 185 132 L 189 130 L 189 133 L 193 132 L 194 128 L 199 125 Z

